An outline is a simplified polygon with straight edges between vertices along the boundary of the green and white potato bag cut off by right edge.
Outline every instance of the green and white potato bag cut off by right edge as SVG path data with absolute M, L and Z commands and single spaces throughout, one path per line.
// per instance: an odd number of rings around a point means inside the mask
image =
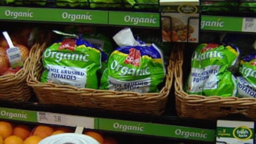
M 241 76 L 237 77 L 237 95 L 256 98 L 256 54 L 244 56 L 240 60 L 239 73 Z

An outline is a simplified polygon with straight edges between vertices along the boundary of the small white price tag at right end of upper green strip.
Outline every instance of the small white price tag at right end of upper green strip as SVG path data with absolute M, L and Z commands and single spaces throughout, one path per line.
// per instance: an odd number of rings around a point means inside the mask
M 242 23 L 242 32 L 256 32 L 256 18 L 244 17 Z

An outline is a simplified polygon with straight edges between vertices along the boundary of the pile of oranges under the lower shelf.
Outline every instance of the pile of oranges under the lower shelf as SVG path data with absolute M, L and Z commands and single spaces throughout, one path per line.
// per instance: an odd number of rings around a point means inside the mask
M 50 135 L 58 135 L 64 132 L 74 132 L 70 127 L 50 127 L 48 125 L 37 125 L 35 127 L 0 121 L 0 144 L 37 144 L 43 138 Z M 84 135 L 89 135 L 100 144 L 118 144 L 115 138 L 105 136 L 102 132 L 86 130 Z

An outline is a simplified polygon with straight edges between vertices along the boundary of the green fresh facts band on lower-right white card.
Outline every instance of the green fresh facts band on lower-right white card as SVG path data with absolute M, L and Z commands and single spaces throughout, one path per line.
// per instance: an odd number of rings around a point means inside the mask
M 238 140 L 249 140 L 253 138 L 254 129 L 241 127 L 217 127 L 217 138 L 236 138 Z

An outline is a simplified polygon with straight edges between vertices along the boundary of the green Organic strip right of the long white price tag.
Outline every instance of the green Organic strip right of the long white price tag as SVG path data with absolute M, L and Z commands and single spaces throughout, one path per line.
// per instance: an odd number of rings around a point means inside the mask
M 166 138 L 215 141 L 215 130 L 175 125 L 161 125 L 149 122 L 133 122 L 99 118 L 99 130 L 127 132 L 141 135 L 155 135 Z

